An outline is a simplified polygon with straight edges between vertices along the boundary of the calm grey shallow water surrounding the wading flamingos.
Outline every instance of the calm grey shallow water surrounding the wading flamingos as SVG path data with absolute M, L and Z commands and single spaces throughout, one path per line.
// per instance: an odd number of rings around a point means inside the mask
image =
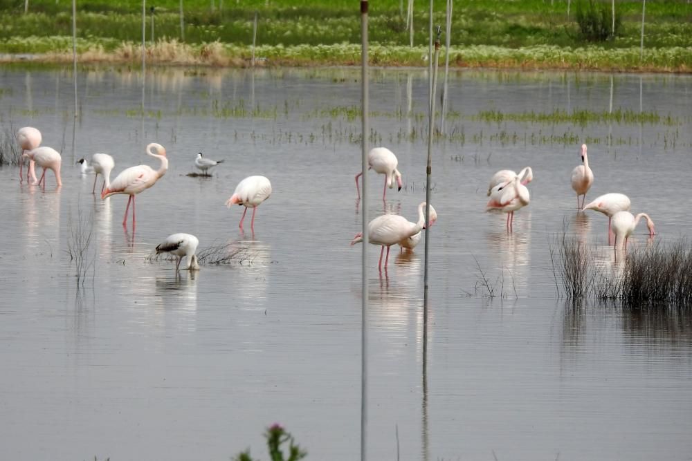
M 262 431 L 278 421 L 309 459 L 356 459 L 358 70 L 165 69 L 144 91 L 128 70 L 85 70 L 74 125 L 69 71 L 0 72 L 3 130 L 41 129 L 62 151 L 64 182 L 56 190 L 49 172 L 42 190 L 0 169 L 0 458 L 228 459 L 248 446 L 265 457 Z M 424 200 L 427 121 L 416 114 L 427 85 L 421 70 L 373 72 L 372 141 L 397 153 L 404 188 L 383 203 L 370 172 L 371 217 L 415 219 Z M 653 217 L 654 241 L 689 234 L 692 205 L 677 195 L 692 167 L 692 79 L 612 77 L 614 111 L 669 122 L 476 117 L 608 112 L 610 88 L 605 74 L 450 76 L 454 135 L 433 157 L 425 376 L 423 245 L 392 249 L 382 276 L 369 249 L 371 459 L 396 459 L 397 431 L 404 460 L 691 459 L 691 314 L 573 308 L 557 297 L 549 247 L 567 229 L 610 254 L 605 217 L 575 210 L 569 178 L 584 141 L 596 178 L 587 200 L 620 191 Z M 104 151 L 113 176 L 156 167 L 143 152 L 154 141 L 170 169 L 136 198 L 133 234 L 120 224 L 126 198 L 92 196 L 93 176 L 73 164 Z M 190 178 L 198 151 L 226 163 Z M 507 234 L 504 216 L 483 212 L 487 181 L 527 165 L 531 204 Z M 239 232 L 242 208 L 224 206 L 251 174 L 273 185 L 254 236 L 248 222 Z M 78 288 L 66 250 L 80 216 L 93 223 L 94 264 Z M 174 232 L 231 243 L 242 258 L 176 277 L 172 261 L 147 261 Z M 648 243 L 641 226 L 630 245 Z

